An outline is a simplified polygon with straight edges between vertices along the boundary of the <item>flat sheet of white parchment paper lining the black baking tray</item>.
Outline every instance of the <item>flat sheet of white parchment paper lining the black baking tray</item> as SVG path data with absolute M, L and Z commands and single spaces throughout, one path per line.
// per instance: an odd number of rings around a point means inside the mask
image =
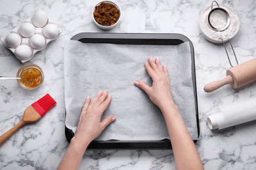
M 158 57 L 161 63 L 166 64 L 174 101 L 192 139 L 198 139 L 188 42 L 179 46 L 66 42 L 66 127 L 75 133 L 86 97 L 89 95 L 93 98 L 100 90 L 108 90 L 112 102 L 103 118 L 114 115 L 117 119 L 97 140 L 169 139 L 160 109 L 146 93 L 133 85 L 138 79 L 152 84 L 144 68 L 144 62 L 150 56 L 153 59 Z

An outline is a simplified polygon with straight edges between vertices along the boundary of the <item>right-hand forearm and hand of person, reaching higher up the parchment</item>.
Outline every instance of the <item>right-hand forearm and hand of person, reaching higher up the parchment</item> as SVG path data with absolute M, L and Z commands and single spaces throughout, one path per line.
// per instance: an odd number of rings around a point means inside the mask
M 152 87 L 140 80 L 136 80 L 135 85 L 144 90 L 151 101 L 161 109 L 169 137 L 171 137 L 171 146 L 173 147 L 177 169 L 203 169 L 203 163 L 196 146 L 179 114 L 178 107 L 173 102 L 169 75 L 165 65 L 161 66 L 158 58 L 155 61 L 149 58 L 148 63 L 145 63 L 145 67 L 148 75 L 153 80 Z M 179 127 L 179 130 L 177 130 L 177 127 Z

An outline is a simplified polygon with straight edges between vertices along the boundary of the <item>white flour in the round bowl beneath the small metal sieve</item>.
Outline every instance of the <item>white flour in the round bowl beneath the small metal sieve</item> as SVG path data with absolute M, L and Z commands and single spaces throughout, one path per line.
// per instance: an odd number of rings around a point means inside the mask
M 217 5 L 214 5 L 213 8 L 216 8 Z M 207 7 L 203 10 L 201 17 L 200 17 L 200 29 L 203 37 L 207 39 L 208 41 L 214 42 L 214 43 L 222 43 L 228 41 L 228 39 L 232 39 L 238 33 L 239 27 L 240 27 L 240 20 L 238 18 L 238 15 L 234 10 L 224 6 L 219 5 L 219 7 L 223 8 L 228 12 L 230 16 L 230 25 L 225 31 L 215 31 L 211 25 L 209 25 L 208 22 L 208 15 L 211 11 L 211 6 Z M 214 27 L 221 28 L 224 27 L 226 24 L 226 16 L 225 14 L 222 14 L 221 12 L 213 12 L 211 14 L 211 24 Z

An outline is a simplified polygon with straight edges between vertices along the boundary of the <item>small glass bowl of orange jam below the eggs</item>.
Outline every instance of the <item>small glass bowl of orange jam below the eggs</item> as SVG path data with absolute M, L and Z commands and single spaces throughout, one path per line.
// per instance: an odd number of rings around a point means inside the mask
M 18 84 L 27 90 L 38 88 L 43 82 L 43 71 L 35 64 L 28 64 L 20 67 L 17 72 L 17 77 L 20 77 Z

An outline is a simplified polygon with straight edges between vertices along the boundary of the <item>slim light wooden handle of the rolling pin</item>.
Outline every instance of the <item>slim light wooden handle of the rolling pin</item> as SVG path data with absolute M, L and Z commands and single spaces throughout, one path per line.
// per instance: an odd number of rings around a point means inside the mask
M 217 90 L 218 88 L 221 88 L 222 86 L 224 86 L 226 84 L 232 84 L 232 82 L 233 82 L 232 76 L 228 75 L 225 78 L 223 78 L 222 80 L 217 80 L 215 82 L 210 82 L 210 83 L 206 84 L 204 86 L 203 90 L 207 93 L 213 92 L 214 90 Z

